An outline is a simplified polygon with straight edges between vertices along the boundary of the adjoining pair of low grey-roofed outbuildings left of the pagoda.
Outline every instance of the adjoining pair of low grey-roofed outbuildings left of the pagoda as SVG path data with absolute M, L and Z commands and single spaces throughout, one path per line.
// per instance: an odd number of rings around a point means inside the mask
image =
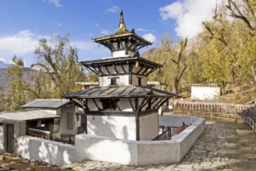
M 84 133 L 79 109 L 69 100 L 33 100 L 22 108 L 0 113 L 0 151 L 14 151 L 16 138 L 23 135 L 68 142 Z

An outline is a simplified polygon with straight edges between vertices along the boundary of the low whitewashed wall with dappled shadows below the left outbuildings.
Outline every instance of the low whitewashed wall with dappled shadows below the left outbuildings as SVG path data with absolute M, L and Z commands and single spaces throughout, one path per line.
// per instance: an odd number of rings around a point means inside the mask
M 21 136 L 17 141 L 15 153 L 22 158 L 41 160 L 57 166 L 71 164 L 79 159 L 73 145 L 31 136 Z

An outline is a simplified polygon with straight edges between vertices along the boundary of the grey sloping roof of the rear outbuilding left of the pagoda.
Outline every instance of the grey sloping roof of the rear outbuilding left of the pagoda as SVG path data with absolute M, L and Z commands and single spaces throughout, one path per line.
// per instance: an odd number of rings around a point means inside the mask
M 33 100 L 32 102 L 22 105 L 23 108 L 49 108 L 49 109 L 58 109 L 62 105 L 71 104 L 69 100 L 65 99 L 51 99 L 51 100 Z

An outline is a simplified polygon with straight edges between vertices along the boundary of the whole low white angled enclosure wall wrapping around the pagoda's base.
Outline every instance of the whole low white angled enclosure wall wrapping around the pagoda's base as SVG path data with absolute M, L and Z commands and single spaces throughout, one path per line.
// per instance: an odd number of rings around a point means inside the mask
M 167 120 L 170 117 L 169 121 L 172 121 L 173 117 L 177 116 L 163 117 Z M 90 159 L 136 166 L 180 162 L 206 128 L 203 118 L 183 117 L 183 119 L 193 123 L 182 133 L 174 135 L 172 140 L 116 140 L 90 134 L 78 134 L 75 138 L 75 148 L 79 153 L 79 161 Z

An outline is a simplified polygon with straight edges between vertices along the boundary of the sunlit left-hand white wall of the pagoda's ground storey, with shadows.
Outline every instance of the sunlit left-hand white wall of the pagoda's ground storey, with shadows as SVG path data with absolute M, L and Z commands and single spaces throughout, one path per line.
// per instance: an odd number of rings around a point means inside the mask
M 88 116 L 88 134 L 122 140 L 136 140 L 135 117 Z

